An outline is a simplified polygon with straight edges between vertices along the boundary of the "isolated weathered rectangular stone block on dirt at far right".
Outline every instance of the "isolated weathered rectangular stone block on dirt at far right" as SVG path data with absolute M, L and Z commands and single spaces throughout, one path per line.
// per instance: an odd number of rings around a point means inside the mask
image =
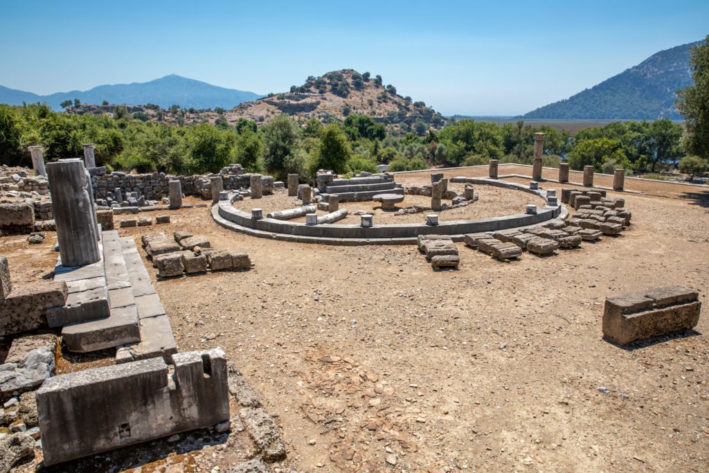
M 603 337 L 619 345 L 694 328 L 701 311 L 698 293 L 680 286 L 624 294 L 605 300 Z

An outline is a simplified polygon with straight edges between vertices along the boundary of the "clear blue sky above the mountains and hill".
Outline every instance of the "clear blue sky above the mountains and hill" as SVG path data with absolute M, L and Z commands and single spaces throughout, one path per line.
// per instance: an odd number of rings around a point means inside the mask
M 173 73 L 267 94 L 352 68 L 445 115 L 513 115 L 705 38 L 709 1 L 6 0 L 0 25 L 0 85 L 35 94 Z

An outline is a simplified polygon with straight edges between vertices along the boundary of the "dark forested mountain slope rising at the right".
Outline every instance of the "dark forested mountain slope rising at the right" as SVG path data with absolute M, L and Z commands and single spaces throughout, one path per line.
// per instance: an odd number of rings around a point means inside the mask
M 620 119 L 681 120 L 674 108 L 675 92 L 692 83 L 689 48 L 703 41 L 657 52 L 635 67 L 518 118 L 557 120 Z

